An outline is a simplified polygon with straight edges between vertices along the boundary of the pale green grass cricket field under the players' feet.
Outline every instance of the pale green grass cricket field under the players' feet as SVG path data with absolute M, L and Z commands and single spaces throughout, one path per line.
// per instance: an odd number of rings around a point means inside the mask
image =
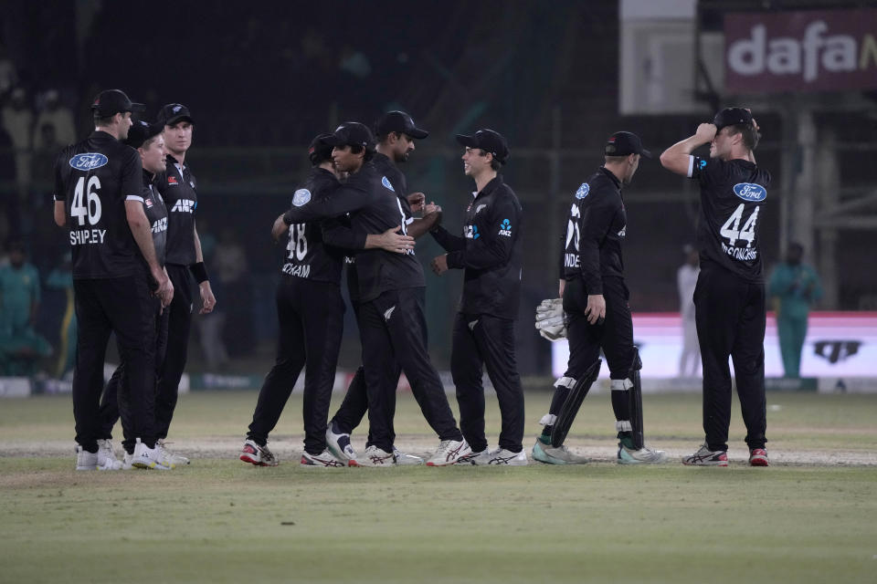
M 528 449 L 549 399 L 527 395 Z M 255 392 L 181 396 L 174 446 L 197 457 L 166 473 L 76 473 L 69 396 L 0 401 L 0 582 L 877 575 L 877 396 L 768 394 L 768 448 L 779 464 L 766 469 L 744 463 L 738 410 L 731 466 L 679 464 L 676 454 L 703 440 L 694 395 L 646 396 L 649 442 L 673 453 L 671 464 L 613 464 L 607 394 L 588 397 L 568 439 L 592 464 L 303 469 L 293 396 L 271 442 L 282 464 L 255 468 L 237 460 L 255 401 Z M 492 396 L 488 407 L 495 443 Z M 396 431 L 412 450 L 438 443 L 410 396 L 400 398 Z

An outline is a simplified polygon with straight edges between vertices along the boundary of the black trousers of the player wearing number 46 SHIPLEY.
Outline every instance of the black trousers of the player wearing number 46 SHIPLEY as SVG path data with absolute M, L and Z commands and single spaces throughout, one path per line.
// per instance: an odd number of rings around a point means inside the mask
M 97 452 L 101 437 L 103 362 L 114 332 L 127 383 L 119 391 L 122 425 L 146 446 L 155 444 L 155 311 L 145 271 L 134 276 L 73 280 L 78 322 L 73 417 L 76 442 Z M 132 444 L 131 444 L 132 445 Z

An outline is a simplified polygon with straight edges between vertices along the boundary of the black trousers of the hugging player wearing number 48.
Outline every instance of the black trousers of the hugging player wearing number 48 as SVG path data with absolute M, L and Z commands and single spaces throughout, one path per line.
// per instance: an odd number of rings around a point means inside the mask
M 341 287 L 282 276 L 276 299 L 277 360 L 262 383 L 247 437 L 265 445 L 304 368 L 304 449 L 321 454 L 344 328 Z

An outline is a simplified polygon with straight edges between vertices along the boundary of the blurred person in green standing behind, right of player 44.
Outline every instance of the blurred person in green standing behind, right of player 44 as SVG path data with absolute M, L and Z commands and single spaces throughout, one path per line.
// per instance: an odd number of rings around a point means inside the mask
M 784 377 L 801 376 L 801 349 L 807 338 L 810 306 L 822 297 L 822 284 L 816 270 L 802 264 L 804 246 L 788 245 L 786 261 L 774 268 L 767 284 L 768 296 L 775 298 L 779 352 L 783 358 Z

